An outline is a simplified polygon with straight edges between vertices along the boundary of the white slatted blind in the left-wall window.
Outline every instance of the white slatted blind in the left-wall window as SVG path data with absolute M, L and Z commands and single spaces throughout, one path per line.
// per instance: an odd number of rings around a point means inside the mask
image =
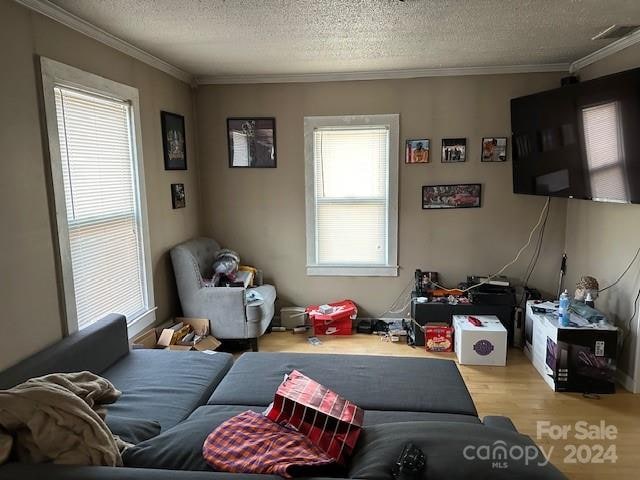
M 146 311 L 146 279 L 126 102 L 56 87 L 73 286 L 82 329 Z

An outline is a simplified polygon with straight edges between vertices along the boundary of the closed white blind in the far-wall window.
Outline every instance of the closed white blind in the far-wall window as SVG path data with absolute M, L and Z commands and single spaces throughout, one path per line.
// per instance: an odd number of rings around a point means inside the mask
M 318 265 L 386 265 L 389 129 L 314 130 Z

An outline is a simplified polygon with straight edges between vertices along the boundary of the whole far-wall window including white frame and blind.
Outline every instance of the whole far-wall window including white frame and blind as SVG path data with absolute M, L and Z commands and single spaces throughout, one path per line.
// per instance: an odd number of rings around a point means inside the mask
M 398 115 L 305 118 L 307 274 L 396 276 Z

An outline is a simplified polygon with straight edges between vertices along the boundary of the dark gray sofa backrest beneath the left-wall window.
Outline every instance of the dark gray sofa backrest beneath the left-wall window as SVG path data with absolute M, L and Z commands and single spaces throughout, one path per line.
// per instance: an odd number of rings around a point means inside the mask
M 127 320 L 111 314 L 0 373 L 0 389 L 50 373 L 88 370 L 96 375 L 129 353 Z

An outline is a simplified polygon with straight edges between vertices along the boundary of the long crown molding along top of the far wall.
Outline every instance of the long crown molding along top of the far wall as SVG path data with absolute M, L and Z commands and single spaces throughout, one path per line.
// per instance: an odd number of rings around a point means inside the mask
M 344 82 L 353 80 L 388 80 L 399 78 L 450 77 L 461 75 L 496 75 L 508 73 L 568 72 L 568 63 L 507 65 L 492 67 L 417 68 L 343 73 L 301 73 L 283 75 L 208 75 L 196 77 L 198 85 L 248 83 Z

